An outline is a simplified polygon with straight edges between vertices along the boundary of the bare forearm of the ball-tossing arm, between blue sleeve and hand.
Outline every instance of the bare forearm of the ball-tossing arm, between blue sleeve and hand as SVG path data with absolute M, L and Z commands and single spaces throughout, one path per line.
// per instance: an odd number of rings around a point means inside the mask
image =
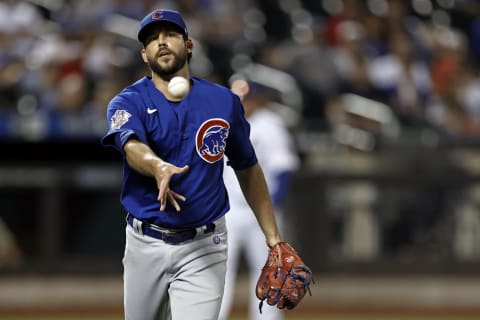
M 154 176 L 156 167 L 165 163 L 149 146 L 138 140 L 128 140 L 123 149 L 128 165 L 143 175 Z

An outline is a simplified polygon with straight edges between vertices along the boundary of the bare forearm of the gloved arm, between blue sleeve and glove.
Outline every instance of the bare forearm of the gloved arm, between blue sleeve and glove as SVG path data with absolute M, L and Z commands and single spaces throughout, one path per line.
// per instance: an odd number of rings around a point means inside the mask
M 261 167 L 256 164 L 246 170 L 236 170 L 236 175 L 245 199 L 252 208 L 262 228 L 267 244 L 273 246 L 281 241 L 267 183 Z

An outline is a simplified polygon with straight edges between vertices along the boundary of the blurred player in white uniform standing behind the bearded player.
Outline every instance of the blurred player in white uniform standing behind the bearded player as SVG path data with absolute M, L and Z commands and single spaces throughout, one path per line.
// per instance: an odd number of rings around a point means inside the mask
M 278 105 L 274 103 L 277 92 L 264 84 L 245 79 L 232 81 L 231 89 L 240 97 L 245 108 L 245 116 L 251 126 L 250 139 L 257 152 L 258 161 L 263 167 L 275 207 L 277 223 L 282 230 L 279 211 L 288 189 L 290 176 L 299 166 L 299 158 L 284 120 L 274 110 L 274 106 Z M 227 319 L 232 309 L 241 254 L 244 254 L 248 265 L 249 293 L 253 293 L 268 253 L 267 247 L 258 245 L 264 241 L 262 231 L 245 201 L 234 171 L 227 165 L 224 170 L 224 180 L 230 199 L 230 212 L 226 215 L 229 232 L 227 273 L 220 320 Z M 267 304 L 264 304 L 260 314 L 259 300 L 254 294 L 248 296 L 249 319 L 283 319 L 281 310 Z

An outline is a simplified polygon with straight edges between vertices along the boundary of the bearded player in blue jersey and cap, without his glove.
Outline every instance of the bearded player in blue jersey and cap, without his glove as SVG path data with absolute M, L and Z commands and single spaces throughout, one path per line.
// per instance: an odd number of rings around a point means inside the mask
M 217 319 L 230 209 L 224 155 L 263 230 L 257 245 L 273 247 L 281 237 L 267 184 L 240 99 L 190 75 L 193 43 L 180 13 L 149 13 L 138 40 L 151 75 L 110 101 L 102 138 L 123 156 L 125 319 Z M 189 80 L 183 98 L 168 91 L 174 76 Z

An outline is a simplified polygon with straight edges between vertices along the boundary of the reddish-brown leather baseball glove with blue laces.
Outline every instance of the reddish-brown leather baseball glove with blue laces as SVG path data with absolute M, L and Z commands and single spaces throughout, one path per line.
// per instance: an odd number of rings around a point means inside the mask
M 260 313 L 263 301 L 277 308 L 293 309 L 305 294 L 312 295 L 312 271 L 308 268 L 287 242 L 279 242 L 270 248 L 267 262 L 257 281 L 256 294 L 260 299 Z

